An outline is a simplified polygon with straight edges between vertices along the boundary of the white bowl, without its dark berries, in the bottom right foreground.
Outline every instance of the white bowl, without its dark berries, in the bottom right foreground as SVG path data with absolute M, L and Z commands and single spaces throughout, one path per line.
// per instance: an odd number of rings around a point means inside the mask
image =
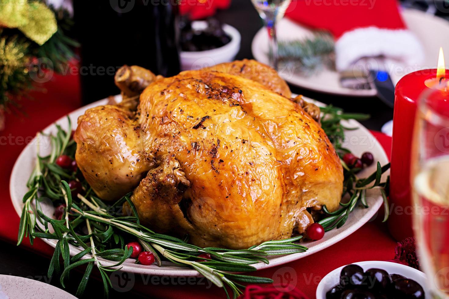
M 423 287 L 426 297 L 427 294 L 430 294 L 429 291 L 427 290 L 426 274 L 412 267 L 405 266 L 403 264 L 396 264 L 380 260 L 369 260 L 365 262 L 357 262 L 352 264 L 361 266 L 363 268 L 363 271 L 366 271 L 370 268 L 378 268 L 387 271 L 388 274 L 400 274 L 402 276 L 414 280 L 415 282 L 418 282 Z M 328 273 L 325 277 L 323 277 L 323 279 L 321 280 L 321 282 L 318 284 L 317 287 L 317 299 L 326 299 L 326 292 L 330 290 L 330 288 L 335 286 L 337 283 L 339 283 L 341 269 L 343 269 L 343 267 L 345 266 L 346 265 L 341 266 Z

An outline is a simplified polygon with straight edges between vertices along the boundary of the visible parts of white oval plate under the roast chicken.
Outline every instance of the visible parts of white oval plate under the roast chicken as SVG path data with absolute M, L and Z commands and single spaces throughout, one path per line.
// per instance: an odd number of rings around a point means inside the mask
M 305 99 L 308 100 L 308 99 Z M 98 105 L 107 104 L 108 100 L 100 100 L 95 103 L 89 104 L 82 108 L 79 108 L 72 113 L 69 114 L 69 117 L 72 121 L 72 124 L 76 126 L 77 119 L 80 115 L 84 114 L 84 111 L 88 108 L 96 107 Z M 319 105 L 323 105 L 322 103 L 317 103 Z M 56 121 L 57 124 L 62 126 L 63 129 L 67 129 L 67 119 L 66 117 L 62 117 Z M 382 146 L 374 138 L 374 136 L 359 122 L 350 120 L 345 121 L 344 126 L 346 127 L 357 127 L 357 130 L 348 130 L 346 131 L 346 139 L 343 142 L 344 147 L 350 149 L 355 155 L 361 156 L 363 152 L 371 152 L 374 155 L 374 159 L 378 160 L 381 165 L 385 165 L 388 163 L 388 158 L 383 151 Z M 50 125 L 44 129 L 44 133 L 55 133 L 56 126 Z M 50 147 L 45 140 L 41 140 L 40 142 L 40 153 L 48 154 L 50 152 Z M 11 200 L 13 202 L 14 208 L 17 214 L 21 215 L 23 203 L 22 198 L 23 195 L 28 191 L 26 187 L 26 182 L 31 174 L 32 169 L 35 165 L 36 159 L 36 138 L 33 139 L 31 143 L 29 143 L 22 151 L 20 156 L 18 157 L 14 167 L 13 172 L 11 173 L 11 180 L 9 184 L 9 191 L 11 194 Z M 370 167 L 363 170 L 360 173 L 360 177 L 367 177 L 371 173 L 373 173 L 376 169 L 376 166 L 373 164 Z M 383 174 L 383 181 L 386 180 L 389 171 Z M 380 192 L 376 189 L 368 190 L 367 192 L 367 202 L 369 208 L 356 208 L 348 217 L 348 220 L 343 225 L 343 227 L 335 230 L 331 230 L 326 232 L 324 238 L 319 241 L 306 241 L 302 244 L 307 246 L 309 249 L 303 253 L 295 253 L 286 256 L 271 256 L 269 257 L 269 264 L 264 264 L 262 262 L 258 264 L 253 264 L 256 269 L 265 269 L 269 267 L 273 267 L 280 264 L 285 264 L 291 262 L 293 260 L 298 260 L 303 258 L 304 256 L 309 256 L 315 252 L 323 250 L 326 247 L 335 244 L 348 235 L 352 234 L 354 231 L 359 229 L 362 225 L 368 222 L 378 211 L 380 206 L 382 205 L 382 196 Z M 52 213 L 47 213 L 47 215 L 52 215 Z M 48 243 L 52 247 L 56 246 L 56 240 L 48 240 L 43 239 L 45 243 Z M 79 248 L 70 245 L 70 255 L 75 255 L 80 251 Z M 87 257 L 85 257 L 87 258 Z M 103 265 L 112 265 L 115 262 L 111 262 L 108 260 L 101 260 Z M 185 267 L 180 267 L 176 264 L 170 262 L 163 262 L 162 267 L 158 267 L 156 265 L 145 266 L 142 264 L 134 264 L 133 259 L 128 259 L 122 264 L 122 271 L 133 272 L 133 273 L 144 273 L 150 275 L 164 275 L 164 276 L 200 276 L 196 270 L 192 270 Z

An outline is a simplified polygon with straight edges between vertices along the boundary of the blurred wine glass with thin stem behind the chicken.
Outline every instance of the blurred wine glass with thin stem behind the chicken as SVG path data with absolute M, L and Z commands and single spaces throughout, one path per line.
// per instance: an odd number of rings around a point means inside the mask
M 276 23 L 284 17 L 291 0 L 251 0 L 267 27 L 269 35 L 270 64 L 277 69 Z

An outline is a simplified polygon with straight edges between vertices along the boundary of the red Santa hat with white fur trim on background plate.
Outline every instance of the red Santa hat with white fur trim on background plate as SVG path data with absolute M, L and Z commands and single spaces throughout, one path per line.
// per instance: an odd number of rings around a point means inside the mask
M 286 16 L 335 37 L 338 70 L 362 57 L 385 56 L 407 65 L 423 61 L 418 39 L 407 30 L 396 0 L 293 0 Z

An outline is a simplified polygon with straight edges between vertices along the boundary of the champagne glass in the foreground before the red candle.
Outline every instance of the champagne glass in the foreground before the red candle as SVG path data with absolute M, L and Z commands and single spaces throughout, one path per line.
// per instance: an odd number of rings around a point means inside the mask
M 447 82 L 418 103 L 412 154 L 414 232 L 431 294 L 449 298 L 449 92 Z

